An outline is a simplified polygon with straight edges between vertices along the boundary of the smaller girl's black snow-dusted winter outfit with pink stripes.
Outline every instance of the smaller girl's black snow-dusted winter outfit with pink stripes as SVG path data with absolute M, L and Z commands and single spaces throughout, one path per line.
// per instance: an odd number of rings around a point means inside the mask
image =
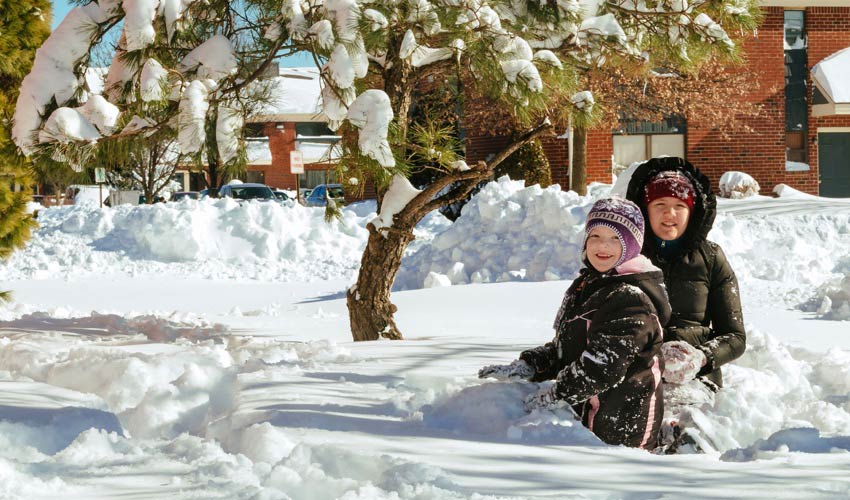
M 635 261 L 641 272 L 633 274 L 583 269 L 564 297 L 555 338 L 520 359 L 534 368 L 532 381 L 554 378 L 555 394 L 602 441 L 651 449 L 664 414 L 660 353 L 670 306 L 661 271 Z

